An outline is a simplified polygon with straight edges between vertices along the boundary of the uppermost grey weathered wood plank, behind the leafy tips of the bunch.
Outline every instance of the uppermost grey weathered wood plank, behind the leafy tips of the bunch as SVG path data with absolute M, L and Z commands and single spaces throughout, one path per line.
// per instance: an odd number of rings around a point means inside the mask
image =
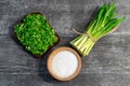
M 110 2 L 113 0 L 106 0 Z M 129 22 L 129 8 L 130 4 L 126 4 L 125 1 L 114 0 L 117 5 L 117 12 L 119 16 L 126 16 L 126 22 L 122 23 L 116 33 L 128 33 L 130 25 Z M 98 5 L 101 5 L 104 0 L 67 0 L 67 1 L 37 1 L 37 0 L 4 0 L 0 1 L 0 34 L 12 34 L 13 26 L 16 24 L 25 14 L 30 12 L 41 12 L 48 18 L 50 24 L 55 28 L 60 35 L 74 35 L 72 28 L 78 28 L 84 30 L 89 18 L 95 11 Z

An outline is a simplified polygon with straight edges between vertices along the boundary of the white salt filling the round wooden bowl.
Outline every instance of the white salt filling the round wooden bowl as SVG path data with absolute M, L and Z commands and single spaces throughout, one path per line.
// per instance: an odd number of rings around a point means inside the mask
M 52 59 L 52 71 L 60 77 L 68 77 L 73 75 L 77 68 L 78 59 L 72 52 L 58 52 Z

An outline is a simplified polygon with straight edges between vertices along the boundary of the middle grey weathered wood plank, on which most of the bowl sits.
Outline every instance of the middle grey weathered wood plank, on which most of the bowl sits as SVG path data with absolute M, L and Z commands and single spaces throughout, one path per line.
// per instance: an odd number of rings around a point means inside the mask
M 110 34 L 100 40 L 87 58 L 82 58 L 81 73 L 130 74 L 130 35 Z M 62 37 L 58 46 L 67 45 L 74 37 Z M 54 48 L 55 48 L 54 47 Z M 0 73 L 38 73 L 38 66 L 46 67 L 48 54 L 43 59 L 34 59 L 17 45 L 12 37 L 0 37 Z M 51 51 L 50 51 L 51 52 Z M 46 69 L 39 69 L 41 72 Z M 48 72 L 46 72 L 48 73 Z

